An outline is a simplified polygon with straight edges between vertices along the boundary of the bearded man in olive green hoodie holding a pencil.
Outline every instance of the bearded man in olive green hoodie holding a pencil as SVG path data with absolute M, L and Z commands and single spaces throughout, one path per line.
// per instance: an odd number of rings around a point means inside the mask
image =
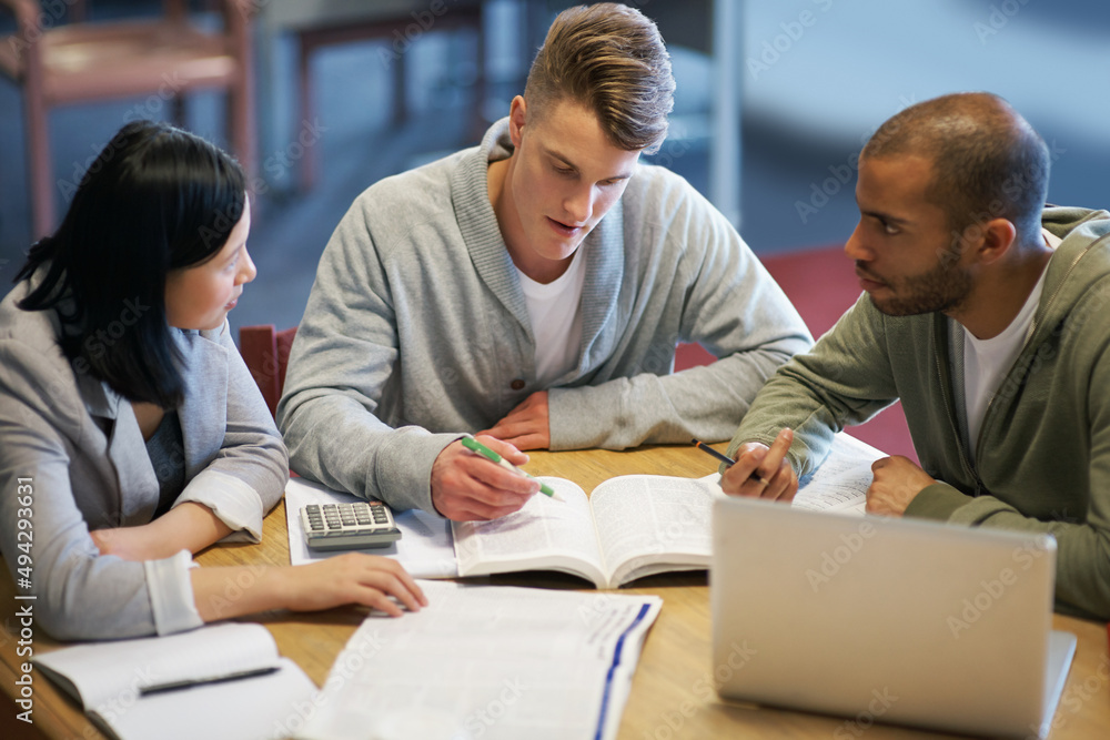
M 1048 170 L 993 95 L 884 123 L 845 246 L 865 294 L 756 397 L 725 490 L 793 498 L 900 398 L 921 465 L 876 460 L 868 511 L 1050 533 L 1057 610 L 1110 619 L 1110 213 L 1045 207 Z

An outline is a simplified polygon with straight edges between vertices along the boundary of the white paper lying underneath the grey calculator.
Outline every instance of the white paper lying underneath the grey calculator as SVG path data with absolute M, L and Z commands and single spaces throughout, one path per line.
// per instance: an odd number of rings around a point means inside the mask
M 289 559 L 292 565 L 305 565 L 333 555 L 355 550 L 315 551 L 309 549 L 301 525 L 301 507 L 306 504 L 342 504 L 364 500 L 352 494 L 332 490 L 323 484 L 291 478 L 285 486 L 285 520 L 289 530 Z M 451 523 L 421 509 L 394 511 L 393 520 L 401 530 L 401 539 L 389 547 L 357 550 L 394 558 L 416 578 L 454 578 L 455 548 L 451 538 Z

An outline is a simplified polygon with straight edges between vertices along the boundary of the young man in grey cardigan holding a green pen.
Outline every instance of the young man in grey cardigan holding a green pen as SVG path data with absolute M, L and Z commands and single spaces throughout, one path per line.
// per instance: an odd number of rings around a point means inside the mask
M 552 26 L 481 145 L 387 178 L 340 223 L 290 357 L 294 470 L 451 519 L 538 490 L 465 450 L 727 438 L 810 337 L 728 222 L 639 162 L 667 132 L 670 60 L 618 4 Z M 672 373 L 677 342 L 719 359 Z

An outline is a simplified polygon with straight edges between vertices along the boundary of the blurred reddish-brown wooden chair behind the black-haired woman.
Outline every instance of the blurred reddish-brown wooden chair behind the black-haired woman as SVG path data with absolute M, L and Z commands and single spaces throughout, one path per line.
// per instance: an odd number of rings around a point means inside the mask
M 59 24 L 61 2 L 49 3 L 48 13 L 38 0 L 0 0 L 17 21 L 14 33 L 0 40 L 0 73 L 23 87 L 33 239 L 56 225 L 47 113 L 57 105 L 158 95 L 180 112 L 189 92 L 225 90 L 232 149 L 254 174 L 249 17 L 256 1 L 221 0 L 223 28 L 210 32 L 190 22 L 186 0 L 163 0 L 157 19 L 67 24 Z M 132 118 L 148 118 L 141 113 Z

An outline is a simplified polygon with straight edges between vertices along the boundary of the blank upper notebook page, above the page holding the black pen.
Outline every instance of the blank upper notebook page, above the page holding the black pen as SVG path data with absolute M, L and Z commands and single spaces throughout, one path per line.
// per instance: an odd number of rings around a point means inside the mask
M 224 622 L 165 637 L 78 645 L 36 656 L 34 665 L 85 711 L 103 713 L 150 686 L 276 666 L 278 660 L 265 627 Z

